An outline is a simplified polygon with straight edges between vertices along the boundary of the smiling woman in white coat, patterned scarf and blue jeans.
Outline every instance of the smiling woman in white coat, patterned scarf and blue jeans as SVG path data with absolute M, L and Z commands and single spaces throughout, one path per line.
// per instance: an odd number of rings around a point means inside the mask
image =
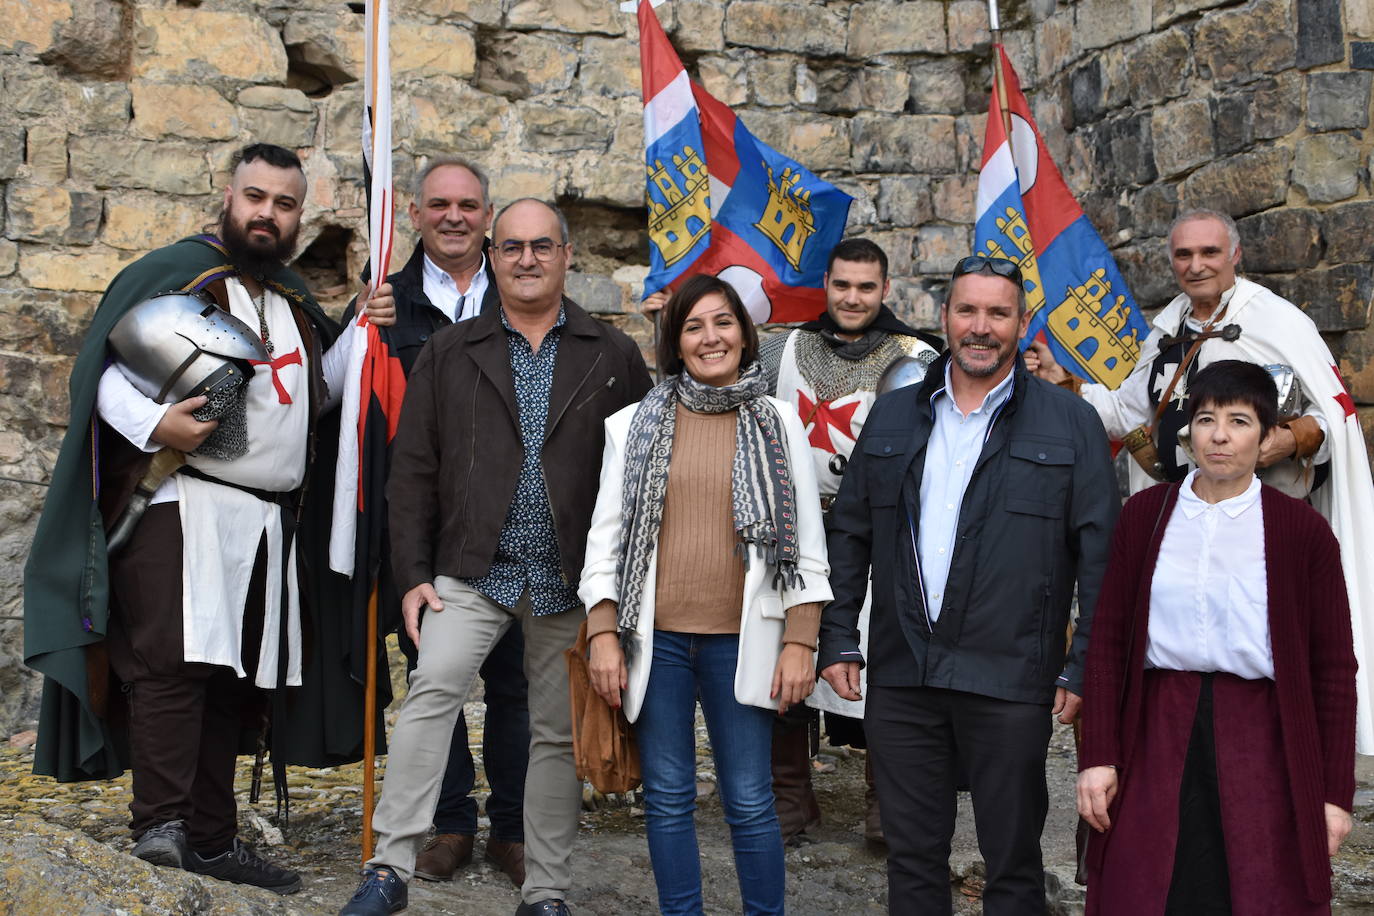
M 820 497 L 801 422 L 768 397 L 758 336 L 734 288 L 688 277 L 662 321 L 658 364 L 669 378 L 606 420 L 578 588 L 591 608 L 589 673 L 607 703 L 624 702 L 639 740 L 660 909 L 702 912 L 699 700 L 743 912 L 780 913 L 772 721 L 816 681 L 830 599 Z

